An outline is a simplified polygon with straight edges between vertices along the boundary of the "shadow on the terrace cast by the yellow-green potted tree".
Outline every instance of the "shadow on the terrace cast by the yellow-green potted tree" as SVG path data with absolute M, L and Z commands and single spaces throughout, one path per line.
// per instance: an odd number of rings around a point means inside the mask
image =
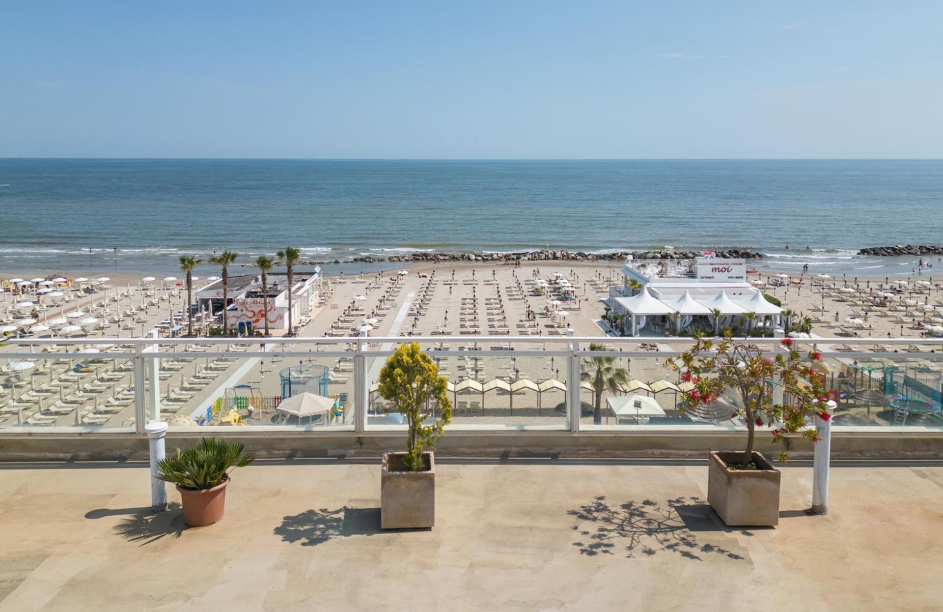
M 379 508 L 348 508 L 336 510 L 321 508 L 306 510 L 282 519 L 274 529 L 275 536 L 284 542 L 301 542 L 302 546 L 317 546 L 336 537 L 373 536 L 380 529 Z

